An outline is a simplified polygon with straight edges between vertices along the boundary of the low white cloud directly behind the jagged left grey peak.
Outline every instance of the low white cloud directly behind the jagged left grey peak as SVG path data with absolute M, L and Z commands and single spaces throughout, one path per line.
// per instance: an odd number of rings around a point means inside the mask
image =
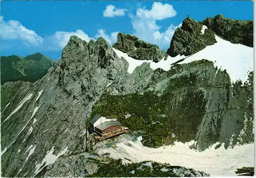
M 67 43 L 69 42 L 69 39 L 72 35 L 75 35 L 86 42 L 89 42 L 91 39 L 93 39 L 93 38 L 89 37 L 86 33 L 84 33 L 82 30 L 77 30 L 76 32 L 57 31 L 54 34 L 53 38 L 59 48 L 64 48 L 67 45 Z M 93 39 L 93 40 L 95 40 L 95 39 Z

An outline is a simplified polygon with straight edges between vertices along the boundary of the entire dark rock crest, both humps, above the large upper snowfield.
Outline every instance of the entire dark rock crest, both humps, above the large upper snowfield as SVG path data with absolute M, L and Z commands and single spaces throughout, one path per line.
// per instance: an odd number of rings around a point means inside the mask
M 182 27 L 176 29 L 167 54 L 172 57 L 179 54 L 184 56 L 194 54 L 217 42 L 214 34 L 232 43 L 253 47 L 252 20 L 226 19 L 218 14 L 214 18 L 207 17 L 202 22 L 186 18 Z

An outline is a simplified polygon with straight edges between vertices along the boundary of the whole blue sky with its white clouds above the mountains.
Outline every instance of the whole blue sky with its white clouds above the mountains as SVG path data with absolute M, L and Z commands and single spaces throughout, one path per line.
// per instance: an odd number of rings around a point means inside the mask
M 56 60 L 71 35 L 134 34 L 167 50 L 175 29 L 189 15 L 198 21 L 223 14 L 253 20 L 251 1 L 2 1 L 1 56 L 40 52 Z

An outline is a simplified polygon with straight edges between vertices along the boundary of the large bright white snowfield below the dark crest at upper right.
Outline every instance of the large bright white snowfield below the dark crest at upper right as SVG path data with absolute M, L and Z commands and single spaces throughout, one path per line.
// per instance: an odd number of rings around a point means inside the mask
M 200 59 L 214 62 L 218 69 L 227 70 L 231 83 L 237 80 L 245 82 L 250 71 L 253 71 L 253 48 L 243 44 L 233 44 L 215 35 L 217 43 L 207 46 L 202 51 L 186 58 L 182 63 Z

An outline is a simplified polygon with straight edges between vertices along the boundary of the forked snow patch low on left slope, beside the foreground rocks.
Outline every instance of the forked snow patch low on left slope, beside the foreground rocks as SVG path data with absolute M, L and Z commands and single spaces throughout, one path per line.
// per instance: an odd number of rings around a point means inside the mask
M 42 169 L 44 169 L 46 166 L 48 166 L 49 164 L 53 164 L 55 163 L 55 161 L 62 155 L 65 154 L 66 152 L 68 152 L 68 147 L 63 148 L 57 155 L 53 154 L 54 151 L 54 146 L 52 147 L 52 149 L 46 154 L 45 158 L 42 159 L 41 163 L 36 164 L 35 168 L 35 172 L 33 177 L 38 174 Z M 46 163 L 46 164 L 45 164 Z M 44 166 L 42 166 L 44 165 Z

